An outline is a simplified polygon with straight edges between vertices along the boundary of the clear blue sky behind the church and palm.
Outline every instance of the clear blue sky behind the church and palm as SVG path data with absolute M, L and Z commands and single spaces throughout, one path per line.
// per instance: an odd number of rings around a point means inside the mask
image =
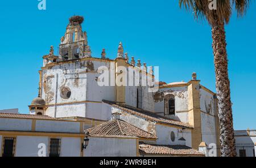
M 55 51 L 68 18 L 82 15 L 93 57 L 102 48 L 117 54 L 119 41 L 129 56 L 159 66 L 160 80 L 189 81 L 197 72 L 201 84 L 215 92 L 212 38 L 209 25 L 197 22 L 178 1 L 38 1 L 0 2 L 0 109 L 28 107 L 38 94 L 39 74 L 49 46 Z M 226 26 L 234 128 L 256 129 L 256 6 L 242 19 L 234 12 Z

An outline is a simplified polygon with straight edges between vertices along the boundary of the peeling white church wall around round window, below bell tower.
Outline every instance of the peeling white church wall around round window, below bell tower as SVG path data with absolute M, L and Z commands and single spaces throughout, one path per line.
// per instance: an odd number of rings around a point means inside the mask
M 42 71 L 42 98 L 46 100 L 48 109 L 46 114 L 51 117 L 87 117 L 102 119 L 97 114 L 99 108 L 89 107 L 85 101 L 102 100 L 115 101 L 115 87 L 97 84 L 97 68 L 106 66 L 109 62 L 101 61 L 76 61 L 71 63 L 56 64 Z M 110 75 L 109 75 L 110 78 Z M 71 91 L 69 98 L 61 97 L 61 88 L 68 87 Z M 95 116 L 94 116 L 95 115 Z

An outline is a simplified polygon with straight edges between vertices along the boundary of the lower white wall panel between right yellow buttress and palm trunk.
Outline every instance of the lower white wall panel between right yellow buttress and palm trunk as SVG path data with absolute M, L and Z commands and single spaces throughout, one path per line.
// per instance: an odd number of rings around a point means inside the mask
M 202 141 L 207 145 L 210 143 L 216 144 L 216 124 L 215 117 L 209 114 L 201 113 L 201 130 Z

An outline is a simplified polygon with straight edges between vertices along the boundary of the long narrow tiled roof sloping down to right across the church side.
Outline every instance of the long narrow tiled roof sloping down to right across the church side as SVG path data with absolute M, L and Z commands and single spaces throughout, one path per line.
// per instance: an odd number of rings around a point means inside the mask
M 180 127 L 185 127 L 185 128 L 193 128 L 188 123 L 179 122 L 179 121 L 164 117 L 162 115 L 155 114 L 151 111 L 138 109 L 138 108 L 128 106 L 128 105 L 122 105 L 122 106 L 117 105 L 117 104 L 115 104 L 115 102 L 112 102 L 112 101 L 103 100 L 103 102 L 105 102 L 106 104 L 110 104 L 114 107 L 117 107 L 118 109 L 120 109 L 122 111 L 125 111 L 126 113 L 134 114 L 134 115 L 137 115 L 139 117 L 151 120 L 153 122 L 165 123 L 165 124 L 170 124 L 170 125 L 180 126 Z

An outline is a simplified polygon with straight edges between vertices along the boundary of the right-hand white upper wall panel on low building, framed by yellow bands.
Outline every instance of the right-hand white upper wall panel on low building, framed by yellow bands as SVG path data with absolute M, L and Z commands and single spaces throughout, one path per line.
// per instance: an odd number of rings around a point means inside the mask
M 37 120 L 35 131 L 80 133 L 80 122 Z

